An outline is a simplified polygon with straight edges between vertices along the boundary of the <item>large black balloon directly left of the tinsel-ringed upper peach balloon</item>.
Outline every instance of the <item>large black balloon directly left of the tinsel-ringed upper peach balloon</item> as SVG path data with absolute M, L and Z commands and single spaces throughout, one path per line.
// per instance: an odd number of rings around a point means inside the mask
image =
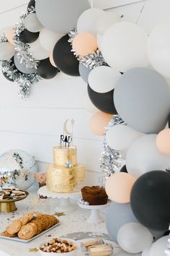
M 63 73 L 73 77 L 79 77 L 79 61 L 71 51 L 71 43 L 68 43 L 68 35 L 64 35 L 55 44 L 53 49 L 53 60 L 55 65 Z

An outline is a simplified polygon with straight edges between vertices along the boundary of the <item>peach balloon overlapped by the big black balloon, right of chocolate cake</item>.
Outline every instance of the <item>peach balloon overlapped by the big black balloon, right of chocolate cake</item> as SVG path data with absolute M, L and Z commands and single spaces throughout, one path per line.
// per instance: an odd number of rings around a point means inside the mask
M 130 202 L 130 192 L 136 179 L 131 174 L 118 172 L 107 179 L 105 189 L 110 200 L 120 203 Z

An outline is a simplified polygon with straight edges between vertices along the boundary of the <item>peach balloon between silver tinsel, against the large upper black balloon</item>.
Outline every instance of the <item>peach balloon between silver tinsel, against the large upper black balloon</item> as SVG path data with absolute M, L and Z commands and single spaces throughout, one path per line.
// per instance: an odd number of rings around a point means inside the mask
M 91 54 L 97 48 L 97 38 L 94 35 L 82 32 L 73 38 L 73 50 L 81 57 Z

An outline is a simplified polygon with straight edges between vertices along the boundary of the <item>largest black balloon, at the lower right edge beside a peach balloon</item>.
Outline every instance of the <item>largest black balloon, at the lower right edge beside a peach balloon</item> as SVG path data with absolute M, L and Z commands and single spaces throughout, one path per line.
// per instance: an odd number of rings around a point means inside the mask
M 166 231 L 170 222 L 170 174 L 150 171 L 133 185 L 130 203 L 135 217 L 149 229 Z

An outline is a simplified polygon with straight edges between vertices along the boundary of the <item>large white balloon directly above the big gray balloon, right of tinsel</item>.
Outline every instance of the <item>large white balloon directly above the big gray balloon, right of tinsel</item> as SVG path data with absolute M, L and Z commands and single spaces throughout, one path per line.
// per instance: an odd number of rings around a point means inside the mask
M 148 35 L 130 22 L 117 22 L 103 35 L 101 50 L 110 67 L 125 72 L 133 67 L 146 67 Z

